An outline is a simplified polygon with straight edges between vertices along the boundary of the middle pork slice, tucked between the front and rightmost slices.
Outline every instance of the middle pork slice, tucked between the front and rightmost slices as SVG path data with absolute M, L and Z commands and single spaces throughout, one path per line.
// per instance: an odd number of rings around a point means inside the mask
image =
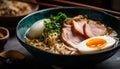
M 84 35 L 83 27 L 87 23 L 87 21 L 86 20 L 77 20 L 77 21 L 73 20 L 72 22 L 73 22 L 72 24 L 73 31 L 75 31 L 76 33 L 80 35 Z

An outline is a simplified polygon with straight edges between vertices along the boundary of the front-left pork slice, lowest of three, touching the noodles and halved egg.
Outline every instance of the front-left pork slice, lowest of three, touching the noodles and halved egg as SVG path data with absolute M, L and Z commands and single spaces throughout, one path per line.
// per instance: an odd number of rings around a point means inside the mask
M 76 48 L 76 45 L 79 44 L 81 41 L 85 40 L 85 37 L 72 32 L 70 27 L 62 28 L 61 37 L 66 44 L 74 48 Z

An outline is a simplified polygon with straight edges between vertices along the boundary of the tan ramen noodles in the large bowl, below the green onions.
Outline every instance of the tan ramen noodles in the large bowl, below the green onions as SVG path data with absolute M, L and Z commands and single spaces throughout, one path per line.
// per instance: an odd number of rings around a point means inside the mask
M 34 46 L 36 48 L 57 53 L 57 54 L 75 54 L 76 49 L 67 46 L 60 40 L 60 35 L 57 33 L 53 33 L 49 35 L 45 42 L 40 42 L 39 39 L 28 39 L 26 38 L 26 42 L 30 44 L 31 46 Z

